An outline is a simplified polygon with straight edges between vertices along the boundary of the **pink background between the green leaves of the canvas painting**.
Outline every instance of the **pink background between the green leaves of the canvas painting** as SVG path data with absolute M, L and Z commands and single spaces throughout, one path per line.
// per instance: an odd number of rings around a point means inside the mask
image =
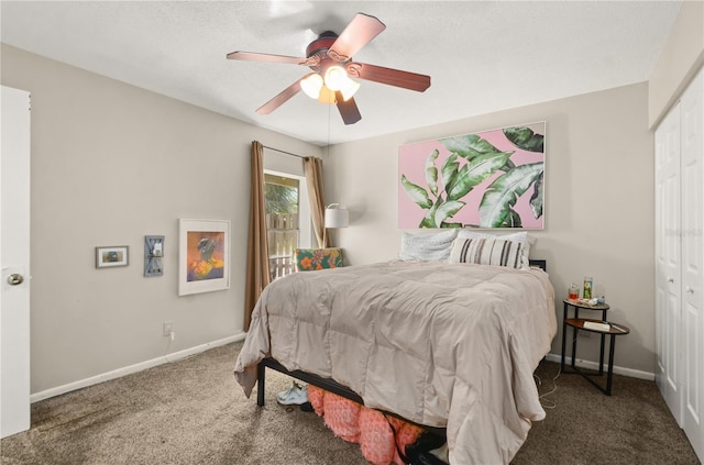
M 520 128 L 530 128 L 537 134 L 546 134 L 546 123 L 532 123 L 532 124 L 517 124 Z M 480 137 L 486 140 L 499 151 L 514 152 L 510 156 L 512 162 L 516 166 L 527 163 L 544 162 L 544 152 L 527 152 L 516 147 L 504 135 L 501 129 L 476 132 L 473 133 Z M 451 153 L 444 148 L 440 140 L 419 142 L 415 144 L 402 145 L 398 147 L 398 228 L 400 229 L 417 229 L 426 215 L 428 210 L 418 207 L 406 193 L 404 187 L 400 184 L 402 175 L 406 175 L 406 178 L 415 185 L 427 188 L 425 165 L 428 156 L 432 151 L 438 150 L 440 155 L 436 159 L 436 167 L 438 167 L 438 188 L 441 190 L 443 186 L 441 167 L 444 160 L 451 155 Z M 464 158 L 459 158 L 461 166 L 465 163 Z M 448 221 L 458 222 L 462 224 L 480 224 L 480 202 L 484 196 L 484 191 L 494 179 L 501 176 L 503 171 L 496 173 L 490 178 L 485 179 L 482 184 L 477 185 L 466 196 L 460 200 L 466 202 L 466 204 Z M 427 190 L 427 189 L 426 189 Z M 518 198 L 516 201 L 515 210 L 520 215 L 522 229 L 540 230 L 543 228 L 543 215 L 536 219 L 534 218 L 532 210 L 530 209 L 530 197 L 532 196 L 532 188 L 528 189 L 525 195 Z M 444 197 L 444 192 L 443 192 Z M 435 197 L 431 197 L 435 199 Z

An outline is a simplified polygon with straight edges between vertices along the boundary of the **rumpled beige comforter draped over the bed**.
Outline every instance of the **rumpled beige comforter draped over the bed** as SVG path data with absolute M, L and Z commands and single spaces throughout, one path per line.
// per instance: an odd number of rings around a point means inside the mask
M 507 464 L 544 418 L 532 372 L 557 333 L 548 275 L 439 262 L 296 273 L 264 289 L 235 364 L 330 377 L 367 407 L 447 427 L 451 464 Z

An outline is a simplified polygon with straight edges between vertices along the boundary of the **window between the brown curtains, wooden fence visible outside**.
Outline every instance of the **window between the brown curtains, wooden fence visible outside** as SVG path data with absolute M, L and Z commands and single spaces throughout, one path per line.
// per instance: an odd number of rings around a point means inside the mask
M 304 179 L 264 173 L 266 236 L 272 280 L 295 272 L 294 248 L 310 245 L 310 212 Z

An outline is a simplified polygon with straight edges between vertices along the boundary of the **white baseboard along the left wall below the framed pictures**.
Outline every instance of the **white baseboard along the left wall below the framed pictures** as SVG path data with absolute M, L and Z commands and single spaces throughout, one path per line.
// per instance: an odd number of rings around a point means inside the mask
M 176 362 L 182 358 L 189 357 L 195 354 L 208 351 L 210 348 L 219 347 L 221 345 L 230 344 L 232 342 L 243 341 L 246 333 L 239 333 L 228 337 L 223 337 L 217 341 L 208 342 L 206 344 L 196 345 L 195 347 L 185 348 L 183 351 L 173 352 L 161 357 L 152 358 L 148 361 L 140 362 L 134 365 L 125 366 L 123 368 L 113 369 L 100 375 L 91 376 L 90 378 L 80 379 L 78 381 L 69 383 L 67 385 L 57 386 L 51 389 L 35 392 L 30 396 L 30 402 L 38 402 L 40 400 L 48 399 L 50 397 L 61 396 L 62 394 L 70 392 L 72 390 L 81 389 L 88 386 L 97 385 L 108 381 L 110 379 L 117 379 L 125 375 L 142 372 L 147 368 L 152 368 L 158 365 Z M 234 361 L 232 361 L 234 363 Z

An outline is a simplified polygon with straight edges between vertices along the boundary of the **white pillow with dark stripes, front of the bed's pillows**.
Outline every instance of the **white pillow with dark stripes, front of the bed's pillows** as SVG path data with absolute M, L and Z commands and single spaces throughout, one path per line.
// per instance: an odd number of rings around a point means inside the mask
M 521 267 L 524 244 L 501 239 L 458 239 L 450 253 L 450 263 Z

